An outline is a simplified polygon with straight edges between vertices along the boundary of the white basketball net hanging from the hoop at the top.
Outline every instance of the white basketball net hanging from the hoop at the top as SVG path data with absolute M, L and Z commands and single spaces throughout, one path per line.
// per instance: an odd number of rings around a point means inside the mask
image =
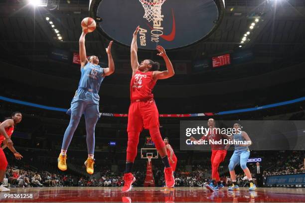
M 161 6 L 165 0 L 139 0 L 145 10 L 144 18 L 146 18 L 149 22 L 153 20 L 153 18 L 161 17 Z

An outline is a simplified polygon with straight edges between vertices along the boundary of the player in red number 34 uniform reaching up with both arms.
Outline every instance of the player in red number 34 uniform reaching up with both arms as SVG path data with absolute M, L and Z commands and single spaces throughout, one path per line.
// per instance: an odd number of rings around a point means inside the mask
M 165 61 L 166 71 L 158 71 L 159 63 L 153 62 L 150 59 L 146 59 L 139 64 L 137 56 L 138 31 L 139 26 L 134 32 L 131 44 L 131 66 L 133 69 L 133 76 L 130 83 L 131 104 L 128 112 L 127 159 L 122 192 L 130 191 L 132 189 L 132 184 L 136 181 L 131 171 L 137 156 L 139 135 L 143 128 L 149 129 L 155 148 L 164 163 L 166 187 L 172 188 L 174 186 L 172 169 L 168 163 L 166 147 L 159 131 L 159 113 L 152 94 L 152 89 L 155 86 L 156 81 L 172 77 L 174 75 L 174 70 L 164 48 L 161 46 L 157 46 L 156 50 L 159 52 L 157 55 L 161 56 Z

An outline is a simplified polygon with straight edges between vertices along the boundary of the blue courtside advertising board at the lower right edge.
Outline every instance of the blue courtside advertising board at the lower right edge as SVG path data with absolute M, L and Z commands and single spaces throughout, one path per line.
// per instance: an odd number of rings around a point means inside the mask
M 265 185 L 270 187 L 276 185 L 305 185 L 305 173 L 267 176 Z

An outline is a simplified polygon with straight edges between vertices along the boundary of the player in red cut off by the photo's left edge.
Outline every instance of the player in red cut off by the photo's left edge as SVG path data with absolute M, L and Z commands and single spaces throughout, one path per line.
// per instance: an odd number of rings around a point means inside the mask
M 7 160 L 3 149 L 8 147 L 10 151 L 14 154 L 16 159 L 23 158 L 21 154 L 19 154 L 15 148 L 13 147 L 13 143 L 10 139 L 11 134 L 14 131 L 14 126 L 19 123 L 22 119 L 22 114 L 20 112 L 13 112 L 9 119 L 4 120 L 0 123 L 0 145 L 3 142 L 3 146 L 0 148 L 0 192 L 9 192 L 10 190 L 3 187 L 3 178 L 5 174 L 5 170 L 7 167 Z

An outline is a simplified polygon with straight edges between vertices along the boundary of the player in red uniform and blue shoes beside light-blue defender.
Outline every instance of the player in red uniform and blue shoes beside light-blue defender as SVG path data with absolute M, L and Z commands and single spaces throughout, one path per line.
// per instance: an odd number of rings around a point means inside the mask
M 202 140 L 214 140 L 214 141 L 219 141 L 223 139 L 230 139 L 232 140 L 232 137 L 222 134 L 220 132 L 219 128 L 215 127 L 215 120 L 213 118 L 208 119 L 208 127 L 209 130 L 206 133 L 206 135 L 203 135 L 201 137 Z M 190 137 L 190 140 L 195 141 L 196 139 L 194 137 Z M 227 154 L 227 149 L 230 147 L 230 145 L 224 145 L 223 141 L 222 144 L 212 144 L 211 149 L 212 149 L 212 156 L 211 156 L 211 165 L 212 165 L 212 181 L 210 185 L 206 185 L 206 188 L 209 189 L 210 191 L 218 191 L 220 188 L 223 188 L 222 183 L 220 182 L 220 177 L 218 173 L 218 167 L 221 162 L 224 161 L 226 154 Z

